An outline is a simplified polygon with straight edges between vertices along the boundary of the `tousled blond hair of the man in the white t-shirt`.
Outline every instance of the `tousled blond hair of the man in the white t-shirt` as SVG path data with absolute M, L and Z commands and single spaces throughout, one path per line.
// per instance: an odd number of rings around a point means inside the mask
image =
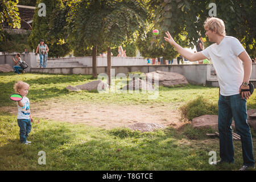
M 218 35 L 226 36 L 225 24 L 220 18 L 207 18 L 204 22 L 204 28 L 209 28 L 210 31 L 214 31 L 216 29 Z

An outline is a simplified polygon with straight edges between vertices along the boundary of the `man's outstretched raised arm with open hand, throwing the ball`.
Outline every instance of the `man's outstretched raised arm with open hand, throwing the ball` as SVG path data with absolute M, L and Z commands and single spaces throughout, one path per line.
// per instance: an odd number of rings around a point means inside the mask
M 183 47 L 181 47 L 179 44 L 177 44 L 174 41 L 174 39 L 170 35 L 169 31 L 166 32 L 166 35 L 167 35 L 167 38 L 164 37 L 164 40 L 166 40 L 168 43 L 170 43 L 172 46 L 174 46 L 175 49 L 177 50 L 177 52 L 179 52 L 180 55 L 185 57 L 187 60 L 197 61 L 197 60 L 207 59 L 207 57 L 205 57 L 201 52 L 191 53 L 191 52 L 187 51 L 186 49 L 184 49 Z

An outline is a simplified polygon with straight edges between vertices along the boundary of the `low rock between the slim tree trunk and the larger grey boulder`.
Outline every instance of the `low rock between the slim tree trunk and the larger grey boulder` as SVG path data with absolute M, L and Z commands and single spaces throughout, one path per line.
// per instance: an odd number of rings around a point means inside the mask
M 154 91 L 155 88 L 151 84 L 151 82 L 148 82 L 146 80 L 141 80 L 139 78 L 134 78 L 134 81 L 131 81 L 128 85 L 123 86 L 122 90 L 151 90 Z

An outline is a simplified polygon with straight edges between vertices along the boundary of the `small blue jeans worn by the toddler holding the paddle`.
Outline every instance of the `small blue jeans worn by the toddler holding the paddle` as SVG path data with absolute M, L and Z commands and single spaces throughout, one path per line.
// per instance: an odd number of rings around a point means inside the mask
M 31 131 L 30 119 L 17 119 L 19 125 L 20 143 L 26 143 L 28 134 Z

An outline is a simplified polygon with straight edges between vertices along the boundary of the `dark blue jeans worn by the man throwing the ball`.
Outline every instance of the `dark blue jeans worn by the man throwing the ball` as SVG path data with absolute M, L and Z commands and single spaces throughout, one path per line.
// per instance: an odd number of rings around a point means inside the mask
M 220 158 L 234 163 L 232 138 L 232 120 L 236 131 L 241 136 L 243 165 L 254 166 L 253 141 L 250 126 L 247 123 L 246 100 L 240 94 L 222 96 L 218 100 L 218 131 L 220 133 Z

